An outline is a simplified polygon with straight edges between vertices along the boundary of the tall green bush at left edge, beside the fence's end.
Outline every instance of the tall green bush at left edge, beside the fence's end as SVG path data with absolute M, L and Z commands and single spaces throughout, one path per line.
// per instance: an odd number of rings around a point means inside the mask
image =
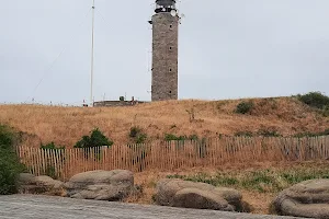
M 0 125 L 0 195 L 18 192 L 18 176 L 24 171 L 14 150 L 15 135 Z

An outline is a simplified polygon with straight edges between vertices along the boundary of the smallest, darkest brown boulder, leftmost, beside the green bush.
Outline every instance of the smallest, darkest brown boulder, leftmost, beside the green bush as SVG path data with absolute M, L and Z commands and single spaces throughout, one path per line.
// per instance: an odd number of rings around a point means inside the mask
M 19 176 L 20 193 L 61 195 L 64 183 L 53 180 L 47 175 L 35 176 L 30 173 L 21 173 Z

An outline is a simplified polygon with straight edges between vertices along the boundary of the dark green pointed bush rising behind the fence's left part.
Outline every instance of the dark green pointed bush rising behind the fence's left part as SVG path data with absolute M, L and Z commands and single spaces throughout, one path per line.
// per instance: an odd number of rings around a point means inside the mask
M 95 128 L 91 131 L 90 136 L 83 136 L 82 139 L 75 145 L 75 148 L 111 147 L 112 145 L 113 141 L 106 138 L 99 128 Z

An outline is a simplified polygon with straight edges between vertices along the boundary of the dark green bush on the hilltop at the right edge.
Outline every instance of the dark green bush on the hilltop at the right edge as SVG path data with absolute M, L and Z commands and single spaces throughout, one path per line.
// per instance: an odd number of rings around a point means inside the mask
M 304 95 L 298 95 L 298 100 L 319 110 L 325 110 L 329 106 L 329 96 L 326 96 L 320 92 L 309 92 Z

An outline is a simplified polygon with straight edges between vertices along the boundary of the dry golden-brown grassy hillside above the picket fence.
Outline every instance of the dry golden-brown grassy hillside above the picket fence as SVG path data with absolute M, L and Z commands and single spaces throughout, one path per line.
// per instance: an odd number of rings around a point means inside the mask
M 54 141 L 67 148 L 95 127 L 116 145 L 134 142 L 132 127 L 141 129 L 145 141 L 164 139 L 166 134 L 198 138 L 246 132 L 292 136 L 329 128 L 328 117 L 296 97 L 168 101 L 113 108 L 0 105 L 1 123 L 24 131 L 29 146 Z

